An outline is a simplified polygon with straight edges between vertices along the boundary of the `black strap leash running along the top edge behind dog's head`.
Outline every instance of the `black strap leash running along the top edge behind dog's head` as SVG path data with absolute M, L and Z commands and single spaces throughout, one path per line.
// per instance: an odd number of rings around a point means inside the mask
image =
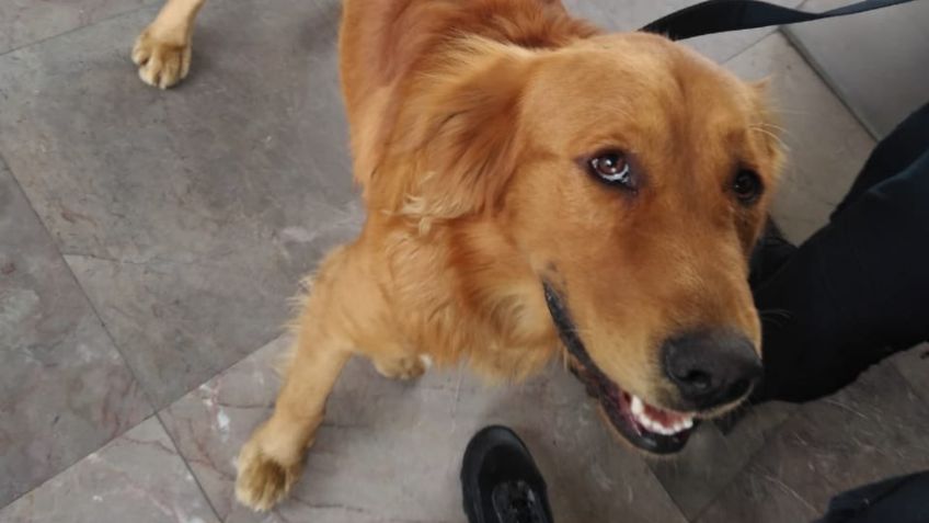
M 756 0 L 709 0 L 670 13 L 642 27 L 641 31 L 663 34 L 670 39 L 684 39 L 725 31 L 795 24 L 863 13 L 913 1 L 915 0 L 864 0 L 824 13 L 807 13 Z

